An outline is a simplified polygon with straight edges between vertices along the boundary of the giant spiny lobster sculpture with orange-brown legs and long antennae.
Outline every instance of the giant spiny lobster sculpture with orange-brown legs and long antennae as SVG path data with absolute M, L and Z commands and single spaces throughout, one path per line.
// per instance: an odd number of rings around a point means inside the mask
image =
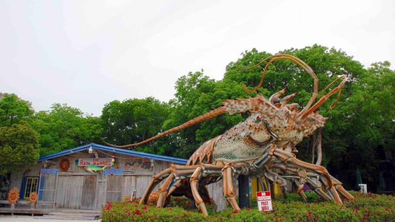
M 193 198 L 198 209 L 203 215 L 207 216 L 204 203 L 209 202 L 210 197 L 206 185 L 223 179 L 224 195 L 234 210 L 238 211 L 240 208 L 237 205 L 236 192 L 232 181 L 232 178 L 237 177 L 237 175 L 265 178 L 267 183 L 261 183 L 262 187 L 268 189 L 266 185 L 270 186 L 276 183 L 281 187 L 284 194 L 287 191 L 287 181 L 291 181 L 297 187 L 296 192 L 305 201 L 307 198 L 302 188 L 306 183 L 318 195 L 328 201 L 342 204 L 338 192 L 348 199 L 354 198 L 343 188 L 341 182 L 328 173 L 325 167 L 307 163 L 295 157 L 295 152 L 297 152 L 296 145 L 304 137 L 312 135 L 317 128 L 323 127 L 328 120 L 328 118 L 315 111 L 329 96 L 336 92 L 339 93 L 337 100 L 339 99 L 347 79 L 346 76 L 340 76 L 330 83 L 323 92 L 338 79 L 343 78 L 337 87 L 333 88 L 326 95 L 320 96 L 318 101 L 314 103 L 318 96 L 318 78 L 313 70 L 302 60 L 290 55 L 278 54 L 268 57 L 261 63 L 248 69 L 258 67 L 269 59 L 271 60 L 263 70 L 259 85 L 253 90 L 247 90 L 243 85 L 244 90 L 252 92 L 258 89 L 262 85 L 268 66 L 275 60 L 292 60 L 314 79 L 313 95 L 303 110 L 300 110 L 299 105 L 296 103 L 288 104 L 296 93 L 280 99 L 285 93 L 285 89 L 283 89 L 273 94 L 269 99 L 258 95 L 255 98 L 226 100 L 220 108 L 140 143 L 125 146 L 105 143 L 118 148 L 137 147 L 225 112 L 231 115 L 246 111 L 250 112 L 250 115 L 244 122 L 238 123 L 224 134 L 205 142 L 197 148 L 185 166 L 171 164 L 169 168 L 155 175 L 140 203 L 146 203 L 154 187 L 164 180 L 159 187 L 157 207 L 163 207 L 168 202 L 170 195 L 186 195 L 191 199 Z M 331 105 L 331 108 L 334 107 L 337 100 Z M 317 183 L 317 180 L 327 192 L 321 189 L 321 185 Z M 261 180 L 259 181 L 262 182 Z

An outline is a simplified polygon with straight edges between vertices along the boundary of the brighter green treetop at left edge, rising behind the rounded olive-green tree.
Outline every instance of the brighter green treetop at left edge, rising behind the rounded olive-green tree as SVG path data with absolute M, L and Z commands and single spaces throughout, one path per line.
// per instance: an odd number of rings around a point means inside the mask
M 34 110 L 28 101 L 11 93 L 0 93 L 0 126 L 11 126 L 32 116 Z

